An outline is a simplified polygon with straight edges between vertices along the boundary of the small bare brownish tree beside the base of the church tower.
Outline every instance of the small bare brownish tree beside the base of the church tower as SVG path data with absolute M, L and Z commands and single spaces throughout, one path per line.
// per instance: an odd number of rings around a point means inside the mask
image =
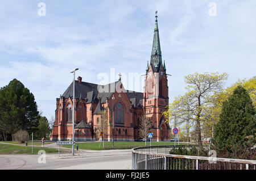
M 146 117 L 146 115 L 143 113 L 141 117 L 139 118 L 139 136 L 144 138 L 145 140 L 145 146 L 147 143 L 147 135 L 150 132 L 151 128 L 151 120 L 149 117 Z

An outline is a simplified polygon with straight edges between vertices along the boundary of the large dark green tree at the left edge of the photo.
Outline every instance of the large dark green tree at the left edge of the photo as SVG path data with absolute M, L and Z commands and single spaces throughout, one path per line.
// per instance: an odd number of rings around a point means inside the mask
M 34 95 L 17 79 L 0 89 L 0 132 L 4 140 L 20 129 L 35 132 L 39 112 Z

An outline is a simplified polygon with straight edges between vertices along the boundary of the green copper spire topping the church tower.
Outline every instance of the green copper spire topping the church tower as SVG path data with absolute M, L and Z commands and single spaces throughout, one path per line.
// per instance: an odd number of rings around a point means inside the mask
M 159 30 L 158 30 L 158 11 L 155 12 L 155 30 L 154 30 L 154 39 L 153 39 L 153 45 L 152 45 L 152 51 L 151 51 L 151 60 L 150 64 L 154 68 L 159 68 L 159 66 L 162 63 L 162 52 L 160 48 L 160 39 L 159 39 Z M 156 70 L 158 71 L 158 70 Z

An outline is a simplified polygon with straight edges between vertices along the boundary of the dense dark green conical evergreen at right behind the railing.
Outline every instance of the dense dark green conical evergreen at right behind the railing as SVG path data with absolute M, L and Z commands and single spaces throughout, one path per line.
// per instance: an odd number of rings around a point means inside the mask
M 213 144 L 217 153 L 231 155 L 255 144 L 255 108 L 248 92 L 238 86 L 223 103 L 220 121 L 214 127 Z

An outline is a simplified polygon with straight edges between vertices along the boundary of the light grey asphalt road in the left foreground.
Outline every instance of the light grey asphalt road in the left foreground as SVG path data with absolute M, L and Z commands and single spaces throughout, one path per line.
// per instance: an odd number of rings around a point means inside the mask
M 131 154 L 115 151 L 112 155 L 95 153 L 86 154 L 81 158 L 59 158 L 58 155 L 46 155 L 46 163 L 39 158 L 40 155 L 0 155 L 0 169 L 26 169 L 26 170 L 50 170 L 50 169 L 75 169 L 75 170 L 127 170 L 131 169 Z

